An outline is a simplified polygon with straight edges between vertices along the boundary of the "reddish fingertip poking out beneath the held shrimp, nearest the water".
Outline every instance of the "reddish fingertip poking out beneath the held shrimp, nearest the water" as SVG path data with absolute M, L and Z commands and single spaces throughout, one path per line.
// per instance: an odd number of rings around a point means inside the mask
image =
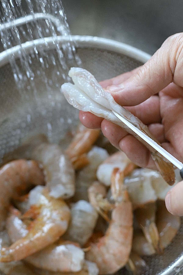
M 101 128 L 101 122 L 103 120 L 103 118 L 97 117 L 90 112 L 83 111 L 79 112 L 79 119 L 85 127 L 92 129 Z

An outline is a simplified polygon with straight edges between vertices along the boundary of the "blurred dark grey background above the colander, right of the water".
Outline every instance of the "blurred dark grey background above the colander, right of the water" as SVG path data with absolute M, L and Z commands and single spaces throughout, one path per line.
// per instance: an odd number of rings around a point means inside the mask
M 153 54 L 183 31 L 182 0 L 62 0 L 73 35 L 114 39 Z

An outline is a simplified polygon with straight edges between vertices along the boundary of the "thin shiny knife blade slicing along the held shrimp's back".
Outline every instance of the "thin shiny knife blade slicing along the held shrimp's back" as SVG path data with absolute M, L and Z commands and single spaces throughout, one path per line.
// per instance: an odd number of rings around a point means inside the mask
M 176 166 L 180 170 L 181 177 L 183 178 L 183 163 L 177 160 L 174 156 L 172 156 L 169 152 L 167 152 L 163 147 L 156 143 L 152 138 L 149 138 L 146 134 L 144 134 L 141 130 L 131 124 L 129 121 L 120 116 L 117 112 L 112 111 L 113 114 L 120 119 L 127 127 L 129 127 L 135 134 L 137 134 L 140 138 L 146 141 L 152 148 L 158 151 L 162 156 L 164 156 L 167 160 L 169 160 L 174 166 Z

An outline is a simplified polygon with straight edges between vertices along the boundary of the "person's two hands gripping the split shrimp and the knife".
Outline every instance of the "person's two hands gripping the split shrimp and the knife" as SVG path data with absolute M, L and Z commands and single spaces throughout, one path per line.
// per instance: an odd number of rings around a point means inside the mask
M 170 36 L 143 66 L 100 83 L 114 100 L 148 125 L 162 147 L 183 161 L 183 33 Z M 103 134 L 138 166 L 156 169 L 149 150 L 124 129 L 80 112 L 89 128 Z M 183 215 L 183 181 L 167 193 L 165 203 L 174 215 Z

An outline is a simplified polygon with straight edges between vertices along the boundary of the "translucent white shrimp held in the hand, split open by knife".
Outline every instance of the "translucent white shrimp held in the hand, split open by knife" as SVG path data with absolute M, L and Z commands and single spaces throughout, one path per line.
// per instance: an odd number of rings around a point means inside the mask
M 141 141 L 151 151 L 152 159 L 155 161 L 156 166 L 165 181 L 170 185 L 174 184 L 175 173 L 173 165 L 164 159 L 155 149 L 134 134 L 134 132 L 124 125 L 124 123 L 122 123 L 112 111 L 117 112 L 119 115 L 133 123 L 135 127 L 142 130 L 150 138 L 156 140 L 149 131 L 149 128 L 127 109 L 118 105 L 114 101 L 112 95 L 105 91 L 96 81 L 94 76 L 87 70 L 82 68 L 71 68 L 69 76 L 72 78 L 74 85 L 71 83 L 64 83 L 61 87 L 66 100 L 75 108 L 108 119 L 134 135 L 135 138 Z M 156 142 L 159 143 L 157 140 Z

